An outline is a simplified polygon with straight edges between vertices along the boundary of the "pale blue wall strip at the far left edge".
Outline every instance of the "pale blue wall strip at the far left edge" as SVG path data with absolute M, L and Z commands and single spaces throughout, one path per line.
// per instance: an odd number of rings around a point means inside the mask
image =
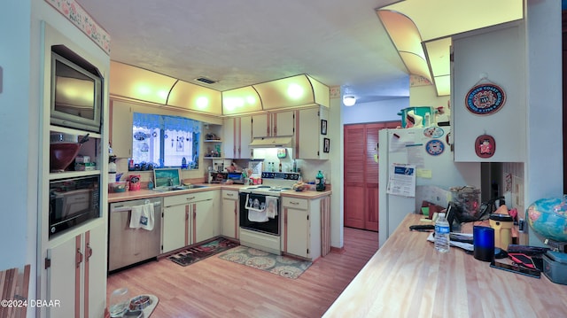
M 36 111 L 30 103 L 36 95 L 29 84 L 30 12 L 30 0 L 6 2 L 0 10 L 0 270 L 35 264 L 37 178 L 29 148 L 36 144 L 28 142 L 27 120 Z

